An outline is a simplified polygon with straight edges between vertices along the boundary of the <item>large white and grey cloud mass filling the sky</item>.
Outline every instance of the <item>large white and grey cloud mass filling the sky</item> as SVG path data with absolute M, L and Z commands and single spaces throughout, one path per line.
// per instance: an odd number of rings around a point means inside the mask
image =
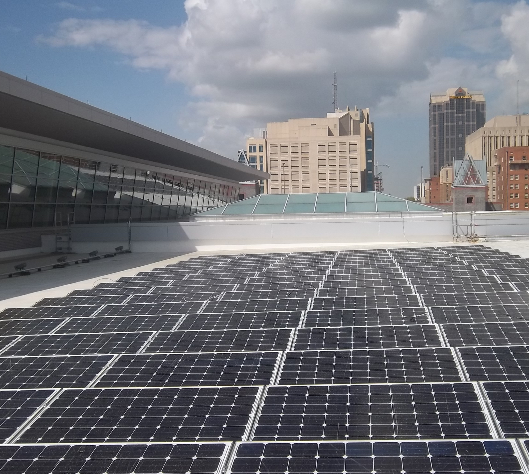
M 375 121 L 425 114 L 428 94 L 448 87 L 485 89 L 489 111 L 516 77 L 529 91 L 525 1 L 186 0 L 185 10 L 186 22 L 168 28 L 68 19 L 40 40 L 167 71 L 194 96 L 182 123 L 228 156 L 253 127 L 330 111 L 335 70 L 339 105 L 370 107 Z

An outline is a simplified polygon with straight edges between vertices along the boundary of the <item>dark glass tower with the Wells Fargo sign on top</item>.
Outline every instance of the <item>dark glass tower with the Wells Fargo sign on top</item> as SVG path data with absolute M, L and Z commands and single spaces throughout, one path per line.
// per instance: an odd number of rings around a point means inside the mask
M 485 96 L 467 87 L 430 95 L 430 177 L 462 160 L 465 137 L 485 124 Z

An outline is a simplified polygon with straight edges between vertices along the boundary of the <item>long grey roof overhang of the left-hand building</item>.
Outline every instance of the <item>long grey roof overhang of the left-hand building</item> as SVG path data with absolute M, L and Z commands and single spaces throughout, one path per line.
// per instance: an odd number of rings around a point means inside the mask
M 0 72 L 0 127 L 231 181 L 263 171 Z

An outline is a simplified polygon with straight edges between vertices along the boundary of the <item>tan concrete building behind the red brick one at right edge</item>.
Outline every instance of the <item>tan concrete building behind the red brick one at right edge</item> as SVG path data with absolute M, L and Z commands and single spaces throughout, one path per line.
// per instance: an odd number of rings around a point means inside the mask
M 497 115 L 479 130 L 467 136 L 467 153 L 475 160 L 486 160 L 490 202 L 498 200 L 498 177 L 494 166 L 495 151 L 504 147 L 528 146 L 529 115 Z

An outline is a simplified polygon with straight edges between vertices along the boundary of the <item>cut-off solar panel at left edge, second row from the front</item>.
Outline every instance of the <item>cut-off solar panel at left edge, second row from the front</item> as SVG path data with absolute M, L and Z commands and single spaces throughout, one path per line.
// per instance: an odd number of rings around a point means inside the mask
M 54 392 L 0 390 L 0 442 L 5 443 Z

